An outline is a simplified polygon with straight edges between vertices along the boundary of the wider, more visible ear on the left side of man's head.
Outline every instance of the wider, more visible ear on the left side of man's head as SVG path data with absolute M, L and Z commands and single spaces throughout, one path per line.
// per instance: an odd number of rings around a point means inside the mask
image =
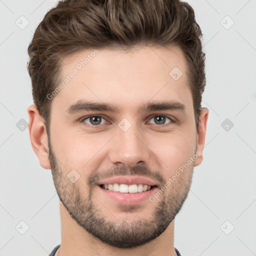
M 32 148 L 37 155 L 40 165 L 44 169 L 50 169 L 48 159 L 48 136 L 43 117 L 39 114 L 36 105 L 30 105 L 28 112 L 28 130 Z

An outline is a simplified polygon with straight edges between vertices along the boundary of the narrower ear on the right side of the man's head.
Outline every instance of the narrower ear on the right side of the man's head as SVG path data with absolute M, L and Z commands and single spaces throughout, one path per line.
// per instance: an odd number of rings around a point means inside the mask
M 198 157 L 194 161 L 194 166 L 197 166 L 202 162 L 202 150 L 205 142 L 208 113 L 208 108 L 202 107 L 196 136 L 196 154 Z

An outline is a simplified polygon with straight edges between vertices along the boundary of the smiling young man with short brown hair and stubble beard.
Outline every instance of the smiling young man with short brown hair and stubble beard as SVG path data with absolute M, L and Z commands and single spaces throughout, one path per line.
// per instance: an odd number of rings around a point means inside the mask
M 180 255 L 202 161 L 201 30 L 179 0 L 64 0 L 28 47 L 30 140 L 60 199 L 50 255 Z

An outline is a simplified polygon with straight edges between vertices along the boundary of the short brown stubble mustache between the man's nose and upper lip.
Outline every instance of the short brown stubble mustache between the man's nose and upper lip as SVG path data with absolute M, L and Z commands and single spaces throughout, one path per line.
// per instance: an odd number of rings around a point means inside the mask
M 160 171 L 152 171 L 145 165 L 135 165 L 131 168 L 127 168 L 125 166 L 115 166 L 114 168 L 109 168 L 103 171 L 97 169 L 90 175 L 87 184 L 89 187 L 92 187 L 101 179 L 123 175 L 140 175 L 143 177 L 151 178 L 153 180 L 157 180 L 160 184 L 164 183 L 164 178 Z

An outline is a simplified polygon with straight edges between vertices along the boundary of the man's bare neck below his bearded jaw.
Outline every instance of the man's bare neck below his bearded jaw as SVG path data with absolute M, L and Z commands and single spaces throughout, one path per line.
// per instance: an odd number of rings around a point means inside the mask
M 154 240 L 133 248 L 117 248 L 101 242 L 98 238 L 79 226 L 61 202 L 60 222 L 61 245 L 55 253 L 57 256 L 73 255 L 74 252 L 76 256 L 176 256 L 173 245 L 174 220 Z

